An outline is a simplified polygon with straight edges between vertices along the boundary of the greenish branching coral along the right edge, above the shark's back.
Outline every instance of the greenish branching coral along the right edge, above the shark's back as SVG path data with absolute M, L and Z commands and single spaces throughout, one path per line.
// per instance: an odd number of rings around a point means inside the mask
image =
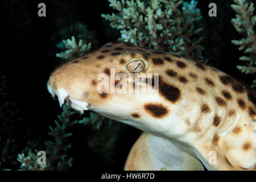
M 254 4 L 248 3 L 246 0 L 234 0 L 236 5 L 231 5 L 236 11 L 236 18 L 231 20 L 234 28 L 243 38 L 240 40 L 232 40 L 232 43 L 240 46 L 238 49 L 243 50 L 245 56 L 241 56 L 241 61 L 246 61 L 245 65 L 237 65 L 237 68 L 245 74 L 256 73 L 256 15 L 253 15 Z M 253 81 L 255 86 L 256 79 Z

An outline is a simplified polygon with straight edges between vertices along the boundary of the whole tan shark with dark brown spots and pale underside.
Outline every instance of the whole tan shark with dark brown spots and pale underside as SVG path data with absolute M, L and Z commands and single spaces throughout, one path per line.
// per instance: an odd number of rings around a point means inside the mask
M 147 92 L 123 92 L 128 87 Z M 55 68 L 47 88 L 60 106 L 66 100 L 80 113 L 94 111 L 146 133 L 127 170 L 203 169 L 197 160 L 208 170 L 255 170 L 256 92 L 216 68 L 115 41 Z

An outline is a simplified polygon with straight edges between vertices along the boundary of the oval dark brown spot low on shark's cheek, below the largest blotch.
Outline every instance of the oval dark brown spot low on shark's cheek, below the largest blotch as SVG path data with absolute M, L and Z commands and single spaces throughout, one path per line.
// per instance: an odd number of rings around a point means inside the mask
M 144 109 L 155 118 L 163 118 L 168 110 L 162 104 L 145 104 Z

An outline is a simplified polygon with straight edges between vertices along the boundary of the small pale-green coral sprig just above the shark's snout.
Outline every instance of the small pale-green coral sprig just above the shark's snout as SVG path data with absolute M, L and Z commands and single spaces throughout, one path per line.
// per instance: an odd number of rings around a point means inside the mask
M 65 44 L 65 48 L 68 50 L 65 52 L 56 53 L 56 57 L 63 59 L 74 59 L 82 56 L 90 50 L 92 45 L 90 42 L 88 44 L 82 44 L 82 39 L 79 40 L 79 44 L 77 45 L 75 36 L 72 36 L 71 40 L 63 40 L 63 43 Z

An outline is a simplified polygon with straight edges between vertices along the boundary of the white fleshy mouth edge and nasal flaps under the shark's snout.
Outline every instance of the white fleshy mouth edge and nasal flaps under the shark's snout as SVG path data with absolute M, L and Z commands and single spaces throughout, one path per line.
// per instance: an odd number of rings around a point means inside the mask
M 69 96 L 68 92 L 65 89 L 57 89 L 56 91 L 47 82 L 47 90 L 51 93 L 52 97 L 57 96 L 59 100 L 60 107 L 64 104 L 65 100 L 68 101 L 68 104 L 75 110 L 79 111 L 81 114 L 84 113 L 84 110 L 88 110 L 90 105 L 84 101 L 78 101 Z

